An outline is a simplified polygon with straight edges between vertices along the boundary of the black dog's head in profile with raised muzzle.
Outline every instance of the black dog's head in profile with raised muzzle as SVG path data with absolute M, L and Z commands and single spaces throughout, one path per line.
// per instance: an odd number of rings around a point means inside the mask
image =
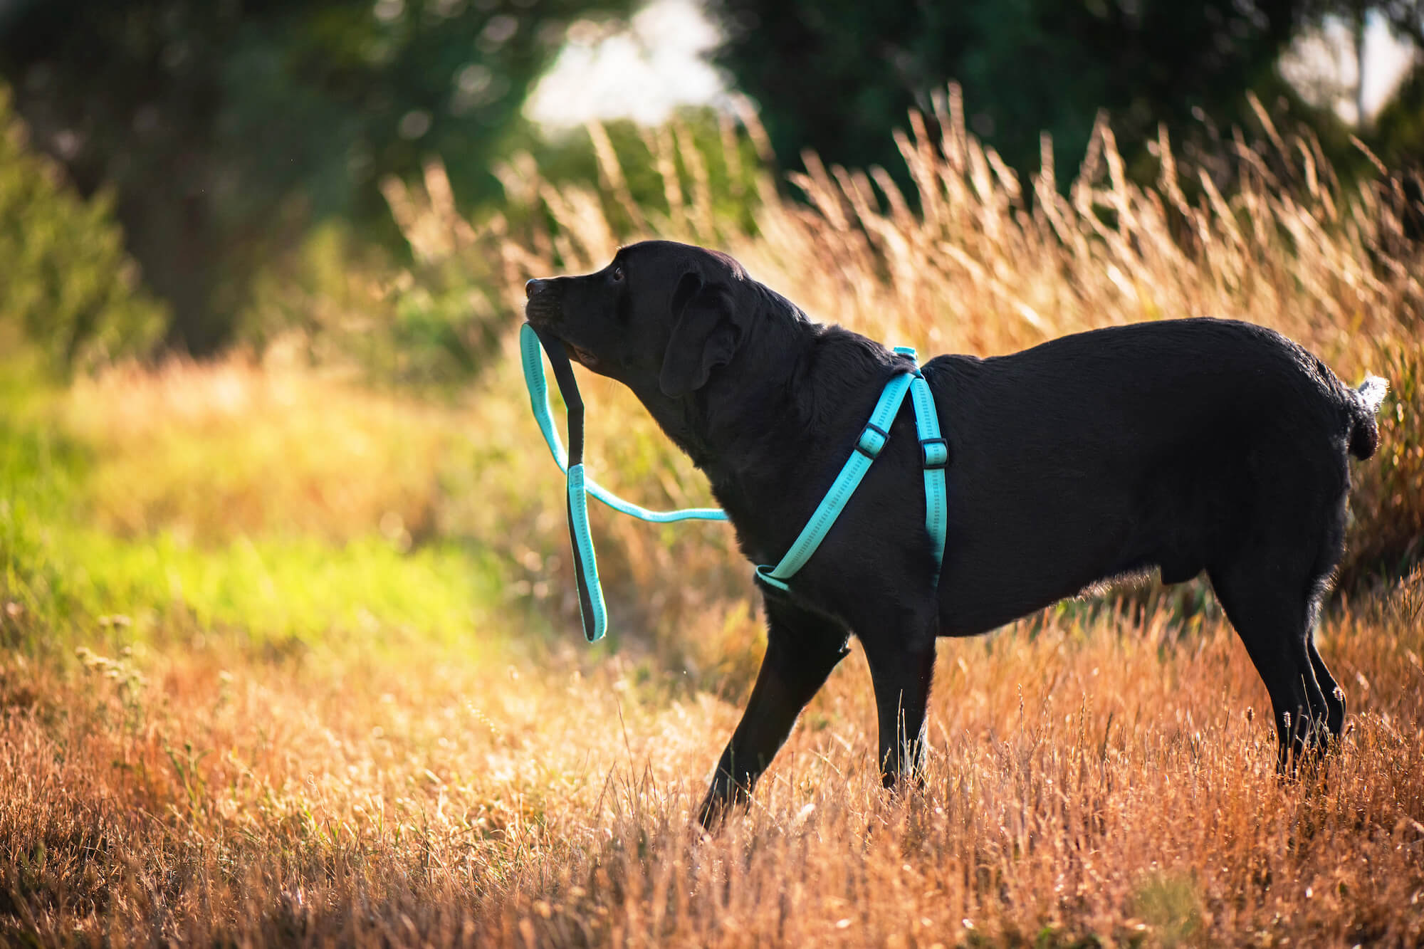
M 726 254 L 645 241 L 595 274 L 530 281 L 524 313 L 588 369 L 679 399 L 736 356 L 752 286 Z

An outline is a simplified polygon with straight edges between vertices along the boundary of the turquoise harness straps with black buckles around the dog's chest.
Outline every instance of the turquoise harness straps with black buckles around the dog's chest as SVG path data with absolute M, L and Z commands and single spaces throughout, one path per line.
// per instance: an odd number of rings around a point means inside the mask
M 909 346 L 896 346 L 894 351 L 901 356 L 916 358 L 914 349 Z M 920 436 L 920 460 L 924 467 L 924 529 L 934 544 L 934 581 L 936 584 L 940 581 L 948 522 L 944 469 L 950 463 L 950 445 L 940 437 L 940 416 L 934 408 L 934 396 L 918 368 L 914 372 L 903 372 L 886 383 L 874 412 L 870 413 L 870 422 L 860 430 L 856 447 L 846 466 L 840 469 L 840 474 L 832 482 L 830 490 L 816 506 L 816 512 L 802 527 L 786 556 L 775 567 L 769 564 L 756 567 L 756 579 L 778 590 L 790 590 L 786 581 L 796 576 L 820 547 L 820 541 L 830 533 L 832 524 L 860 486 L 860 479 L 866 476 L 871 462 L 880 456 L 880 449 L 890 439 L 890 426 L 904 403 L 906 392 L 911 393 L 914 403 L 914 427 Z

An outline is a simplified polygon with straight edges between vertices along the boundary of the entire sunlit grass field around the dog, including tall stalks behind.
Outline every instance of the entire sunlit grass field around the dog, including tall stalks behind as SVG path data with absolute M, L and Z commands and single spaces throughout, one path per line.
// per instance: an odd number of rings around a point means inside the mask
M 1152 188 L 1102 127 L 1061 197 L 941 108 L 943 138 L 903 140 L 913 202 L 812 160 L 809 204 L 760 178 L 753 232 L 711 214 L 718 157 L 675 131 L 651 140 L 659 208 L 607 150 L 600 192 L 510 171 L 540 214 L 484 229 L 439 168 L 387 197 L 419 256 L 498 275 L 510 342 L 524 278 L 601 265 L 632 221 L 923 352 L 1226 315 L 1387 376 L 1319 630 L 1336 754 L 1277 778 L 1209 590 L 1139 584 L 943 641 L 926 782 L 899 797 L 852 655 L 705 836 L 689 815 L 762 648 L 745 564 L 725 527 L 595 514 L 615 631 L 585 648 L 513 348 L 453 403 L 281 348 L 64 389 L 10 362 L 0 943 L 1424 943 L 1424 261 L 1397 182 L 1347 191 L 1263 120 L 1210 168 L 1161 141 Z M 705 500 L 627 393 L 582 383 L 601 479 Z

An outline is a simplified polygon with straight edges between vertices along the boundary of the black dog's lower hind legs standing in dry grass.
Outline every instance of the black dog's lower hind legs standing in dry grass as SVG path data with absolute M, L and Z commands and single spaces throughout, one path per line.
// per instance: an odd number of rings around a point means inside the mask
M 1321 750 L 1337 728 L 1331 721 L 1334 710 L 1312 661 L 1319 586 L 1303 576 L 1304 570 L 1289 569 L 1299 561 L 1299 549 L 1276 547 L 1243 554 L 1229 567 L 1208 570 L 1226 617 L 1270 693 L 1282 771 L 1307 750 Z M 1334 680 L 1326 685 L 1334 691 Z M 1343 704 L 1339 714 L 1344 714 Z

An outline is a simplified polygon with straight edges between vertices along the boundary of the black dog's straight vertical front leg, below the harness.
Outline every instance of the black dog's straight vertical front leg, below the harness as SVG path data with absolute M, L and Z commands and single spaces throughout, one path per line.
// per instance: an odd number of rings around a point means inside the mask
M 880 720 L 880 781 L 894 788 L 924 764 L 924 712 L 934 678 L 934 637 L 860 637 Z

